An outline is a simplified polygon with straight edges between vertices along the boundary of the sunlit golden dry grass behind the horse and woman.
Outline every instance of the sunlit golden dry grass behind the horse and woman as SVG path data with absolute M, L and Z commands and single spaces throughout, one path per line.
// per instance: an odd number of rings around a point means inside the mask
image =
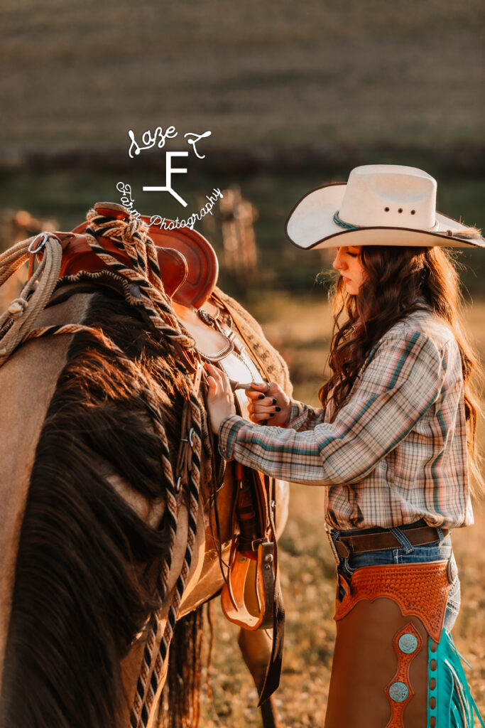
M 324 298 L 283 297 L 260 301 L 252 312 L 289 363 L 295 396 L 317 404 L 316 390 L 328 348 L 330 316 Z M 468 310 L 476 348 L 485 353 L 485 304 Z M 485 433 L 481 422 L 481 442 Z M 458 649 L 473 665 L 468 678 L 485 713 L 485 507 L 475 505 L 475 526 L 455 531 L 462 607 L 454 627 Z M 334 559 L 323 531 L 322 493 L 318 487 L 292 485 L 289 521 L 280 542 L 281 582 L 286 633 L 281 686 L 276 694 L 285 728 L 321 728 L 334 644 Z M 212 703 L 203 703 L 204 728 L 256 728 L 257 694 L 236 644 L 237 628 L 225 620 L 217 602 L 211 681 Z

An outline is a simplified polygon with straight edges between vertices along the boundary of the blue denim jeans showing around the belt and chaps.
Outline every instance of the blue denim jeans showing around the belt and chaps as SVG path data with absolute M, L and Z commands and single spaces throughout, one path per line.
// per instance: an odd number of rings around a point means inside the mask
M 438 530 L 439 541 L 436 543 L 426 544 L 424 546 L 413 546 L 409 539 L 406 538 L 406 529 L 389 529 L 392 531 L 401 546 L 388 549 L 385 551 L 366 551 L 365 553 L 350 554 L 347 558 L 338 556 L 339 563 L 337 569 L 341 571 L 343 576 L 351 577 L 356 569 L 361 566 L 378 566 L 385 563 L 423 563 L 427 561 L 449 561 L 452 574 L 452 584 L 449 588 L 448 602 L 446 604 L 446 612 L 444 615 L 444 628 L 447 632 L 452 630 L 458 612 L 460 611 L 460 579 L 458 578 L 457 563 L 454 560 L 452 550 L 452 539 L 450 535 L 443 537 L 441 529 Z M 335 545 L 337 537 L 340 534 L 351 534 L 358 531 L 339 531 L 332 529 L 331 538 Z M 360 531 L 362 533 L 362 531 Z M 340 598 L 343 597 L 343 593 Z

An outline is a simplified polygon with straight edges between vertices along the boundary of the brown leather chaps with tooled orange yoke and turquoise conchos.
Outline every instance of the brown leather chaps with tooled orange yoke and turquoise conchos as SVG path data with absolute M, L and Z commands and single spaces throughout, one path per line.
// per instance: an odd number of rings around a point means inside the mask
M 325 728 L 436 726 L 436 652 L 450 577 L 446 561 L 338 572 Z M 343 598 L 339 599 L 339 593 Z M 436 672 L 437 674 L 437 672 Z

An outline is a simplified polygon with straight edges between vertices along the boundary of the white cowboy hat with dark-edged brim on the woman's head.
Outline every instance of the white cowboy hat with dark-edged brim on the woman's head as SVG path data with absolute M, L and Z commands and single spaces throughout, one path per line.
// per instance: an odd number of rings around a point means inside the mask
M 348 183 L 317 187 L 297 202 L 286 235 L 298 248 L 440 245 L 485 248 L 480 235 L 436 212 L 436 180 L 415 167 L 364 165 Z

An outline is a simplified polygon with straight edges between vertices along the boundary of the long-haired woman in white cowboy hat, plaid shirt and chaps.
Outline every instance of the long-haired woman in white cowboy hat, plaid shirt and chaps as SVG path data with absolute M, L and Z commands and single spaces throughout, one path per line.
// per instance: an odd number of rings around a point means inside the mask
M 449 634 L 460 605 L 449 531 L 473 523 L 476 362 L 442 248 L 485 242 L 435 205 L 427 173 L 369 165 L 294 207 L 286 233 L 295 245 L 337 247 L 332 376 L 321 409 L 274 383 L 254 385 L 246 422 L 223 373 L 207 365 L 225 459 L 326 486 L 338 582 L 326 728 L 473 724 Z

